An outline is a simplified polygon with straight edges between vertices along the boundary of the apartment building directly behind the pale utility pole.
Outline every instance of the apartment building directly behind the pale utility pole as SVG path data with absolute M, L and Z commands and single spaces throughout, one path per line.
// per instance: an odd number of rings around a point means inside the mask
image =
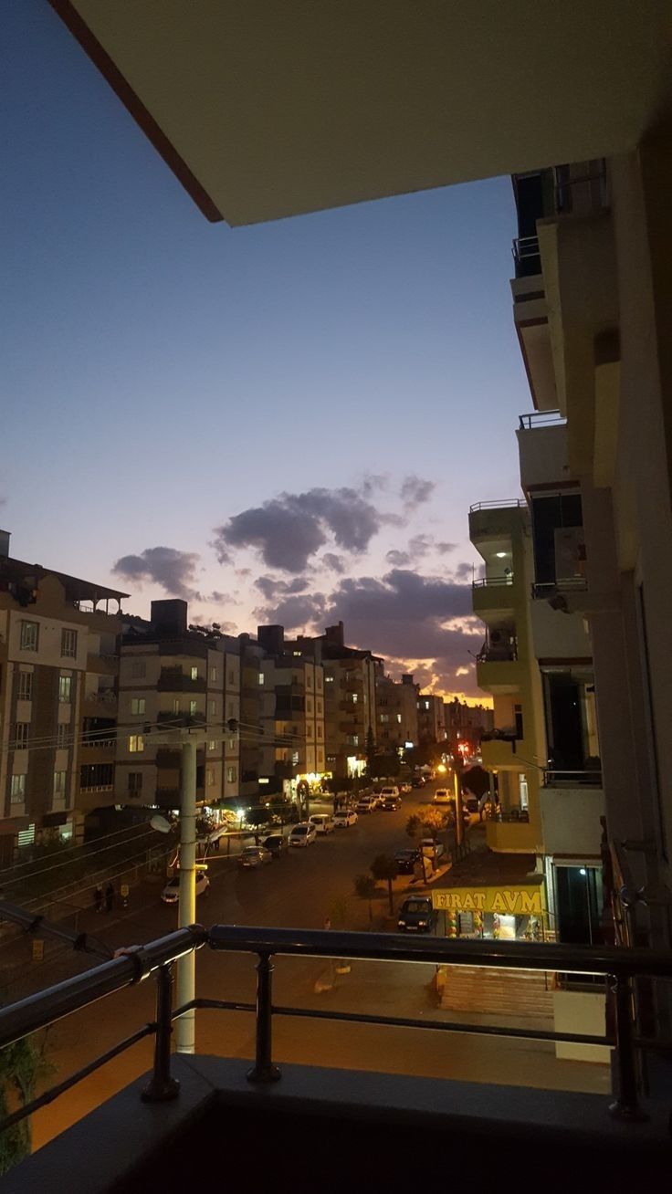
M 156 744 L 153 732 L 208 727 L 197 752 L 197 800 L 214 804 L 240 793 L 238 640 L 187 627 L 184 601 L 152 602 L 149 621 L 128 620 L 119 660 L 117 804 L 179 808 L 180 747 Z

